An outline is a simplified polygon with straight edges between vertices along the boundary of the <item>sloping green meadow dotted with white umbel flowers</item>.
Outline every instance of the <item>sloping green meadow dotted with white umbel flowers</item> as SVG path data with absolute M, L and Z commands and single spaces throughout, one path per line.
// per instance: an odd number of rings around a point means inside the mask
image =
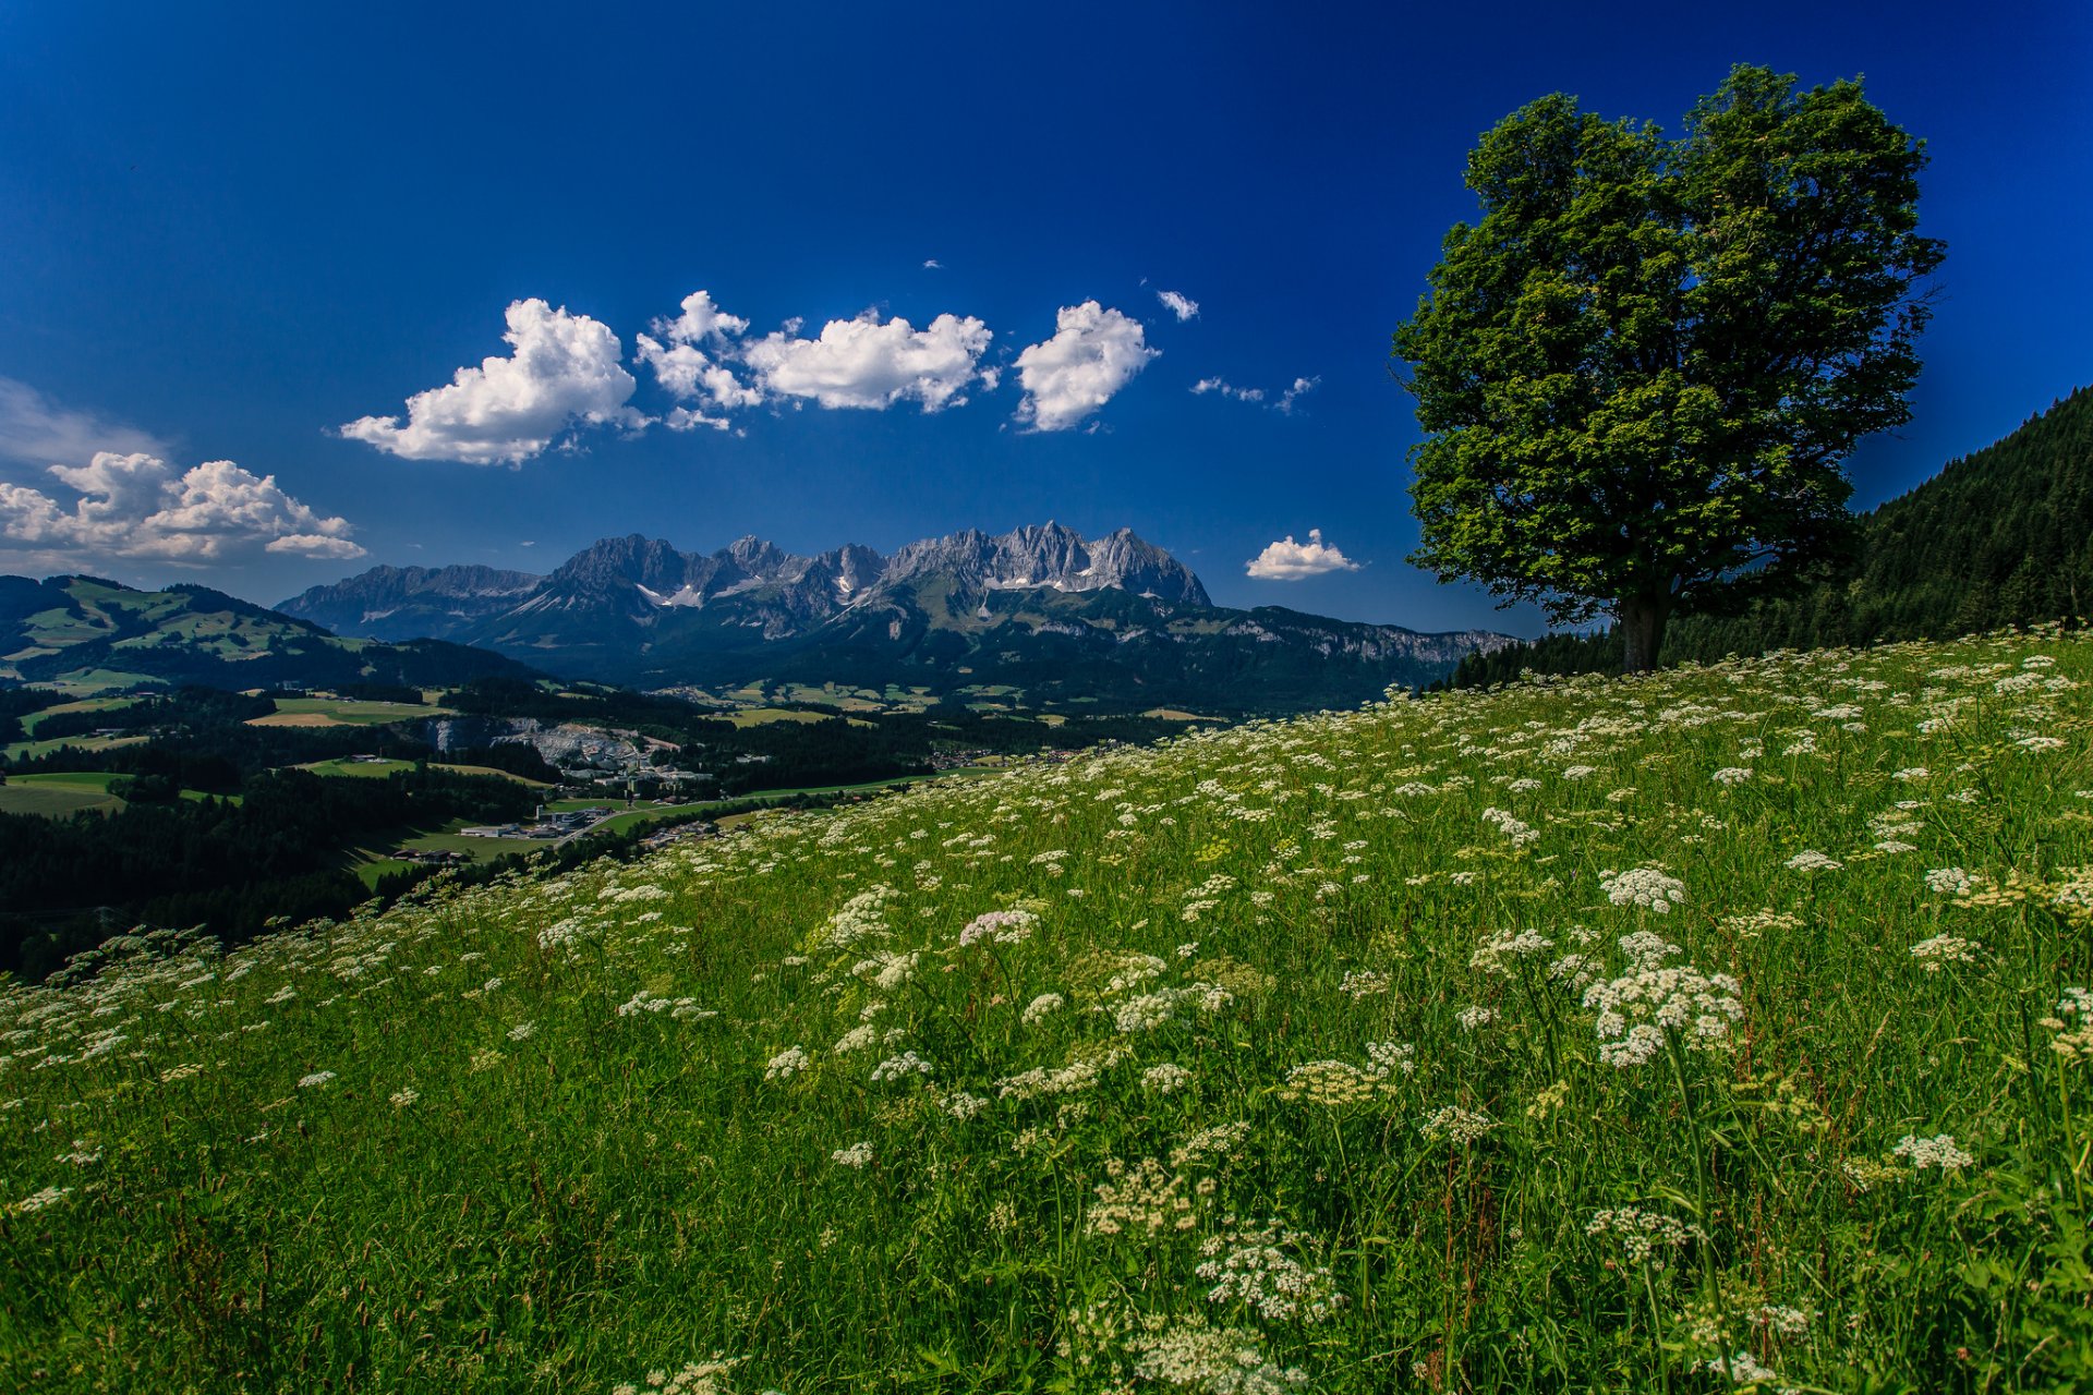
M 1526 682 L 0 991 L 0 1385 L 2070 1391 L 2093 644 Z

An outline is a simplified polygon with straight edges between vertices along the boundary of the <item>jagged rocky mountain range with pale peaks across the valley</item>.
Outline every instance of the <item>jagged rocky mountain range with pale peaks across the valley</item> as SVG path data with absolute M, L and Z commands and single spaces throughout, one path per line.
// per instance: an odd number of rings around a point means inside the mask
M 640 533 L 584 548 L 527 590 L 519 573 L 375 569 L 283 602 L 341 634 L 423 634 L 640 688 L 837 682 L 1038 707 L 1348 707 L 1425 684 L 1488 632 L 1419 634 L 1279 607 L 1216 607 L 1189 567 L 1130 529 L 961 531 L 894 556 L 795 556 L 758 538 L 712 554 Z

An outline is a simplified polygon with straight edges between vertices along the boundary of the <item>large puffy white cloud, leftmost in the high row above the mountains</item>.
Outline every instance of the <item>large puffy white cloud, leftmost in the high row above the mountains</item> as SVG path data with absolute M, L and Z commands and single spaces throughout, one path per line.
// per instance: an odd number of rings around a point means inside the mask
M 689 318 L 684 301 L 674 324 Z M 716 316 L 720 324 L 730 318 Z M 360 416 L 341 435 L 406 460 L 521 464 L 576 425 L 647 425 L 626 406 L 638 383 L 624 370 L 611 326 L 542 299 L 511 303 L 507 320 L 509 358 L 486 358 L 458 368 L 446 387 L 414 393 L 404 427 L 398 416 Z

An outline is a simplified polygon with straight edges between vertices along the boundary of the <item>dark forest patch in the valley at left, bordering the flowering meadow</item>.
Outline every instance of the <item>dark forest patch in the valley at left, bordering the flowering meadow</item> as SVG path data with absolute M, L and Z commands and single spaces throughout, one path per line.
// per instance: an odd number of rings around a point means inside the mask
M 347 849 L 454 818 L 527 818 L 534 795 L 500 776 L 417 768 L 375 778 L 276 770 L 239 801 L 178 799 L 144 776 L 115 814 L 0 814 L 0 968 L 42 977 L 128 922 L 195 927 L 226 941 L 272 918 L 339 916 L 368 899 Z M 123 927 L 117 927 L 123 929 Z

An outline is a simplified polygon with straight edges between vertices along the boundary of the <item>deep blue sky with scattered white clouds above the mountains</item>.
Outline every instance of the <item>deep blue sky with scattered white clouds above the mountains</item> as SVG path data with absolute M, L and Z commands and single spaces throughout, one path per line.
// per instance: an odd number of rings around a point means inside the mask
M 0 569 L 274 602 L 1059 519 L 1224 604 L 1532 634 L 1402 561 L 1388 335 L 1480 132 L 1555 90 L 1676 130 L 1733 63 L 1863 73 L 1932 155 L 1928 366 L 1856 502 L 2093 381 L 2076 0 L 8 6 Z M 1358 569 L 1247 575 L 1310 529 Z

